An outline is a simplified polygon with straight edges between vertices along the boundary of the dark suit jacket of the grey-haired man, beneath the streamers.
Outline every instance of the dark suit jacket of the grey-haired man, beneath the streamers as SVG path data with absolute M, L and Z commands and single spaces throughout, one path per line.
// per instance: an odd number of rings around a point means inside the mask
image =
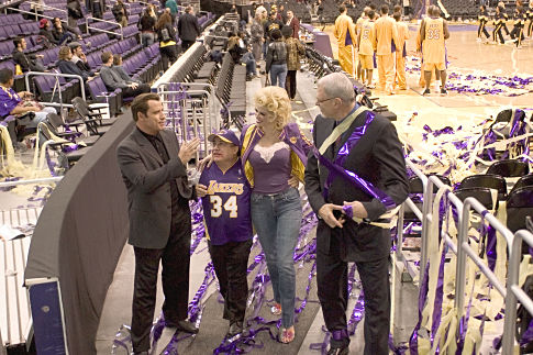
M 324 156 L 333 160 L 338 148 L 346 142 L 356 126 L 365 123 L 367 112 L 360 113 L 352 123 L 352 126 L 342 135 L 341 144 L 333 152 L 330 147 Z M 375 113 L 368 113 L 375 114 Z M 318 115 L 313 126 L 313 142 L 319 148 L 322 142 L 333 131 L 334 120 Z M 400 204 L 408 196 L 408 179 L 402 145 L 398 138 L 395 126 L 389 120 L 376 114 L 369 124 L 367 132 L 347 156 L 344 167 L 354 171 L 366 181 L 371 182 L 392 200 Z M 327 169 L 318 166 L 317 158 L 311 154 L 306 168 L 306 192 L 313 210 L 318 213 L 324 203 L 343 204 L 344 201 L 360 201 L 368 212 L 368 220 L 376 221 L 386 212 L 385 206 L 378 199 L 371 198 L 360 189 L 348 184 L 337 176 L 330 188 L 327 199 L 322 196 L 324 182 L 327 178 Z M 319 222 L 317 230 L 317 247 L 327 252 L 330 248 L 331 229 L 324 221 Z M 390 232 L 366 223 L 357 224 L 346 221 L 342 233 L 349 236 L 351 260 L 369 262 L 389 254 Z

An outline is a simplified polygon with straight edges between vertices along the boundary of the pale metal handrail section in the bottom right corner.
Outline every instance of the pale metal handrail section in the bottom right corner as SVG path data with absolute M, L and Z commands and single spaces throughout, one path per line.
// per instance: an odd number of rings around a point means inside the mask
M 533 246 L 533 234 L 526 230 L 514 233 L 512 241 L 511 257 L 508 265 L 507 297 L 506 297 L 506 319 L 503 321 L 502 354 L 513 354 L 514 333 L 517 323 L 517 302 L 533 314 L 533 301 L 519 285 L 520 260 L 522 259 L 522 241 Z

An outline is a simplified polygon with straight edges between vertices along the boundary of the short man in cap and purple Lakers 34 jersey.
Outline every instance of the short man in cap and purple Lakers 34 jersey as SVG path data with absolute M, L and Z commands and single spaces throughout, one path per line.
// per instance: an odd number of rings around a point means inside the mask
M 249 185 L 238 157 L 238 138 L 230 130 L 211 134 L 213 162 L 196 187 L 202 198 L 209 253 L 224 298 L 227 336 L 243 331 L 248 282 L 246 268 L 252 247 Z

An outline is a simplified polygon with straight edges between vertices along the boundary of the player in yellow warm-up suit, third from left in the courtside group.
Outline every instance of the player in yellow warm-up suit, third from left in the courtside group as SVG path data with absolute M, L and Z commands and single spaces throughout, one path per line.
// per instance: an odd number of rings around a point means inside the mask
M 389 7 L 381 7 L 381 16 L 376 21 L 376 57 L 378 62 L 378 88 L 387 95 L 395 93 L 395 55 L 398 45 L 396 22 L 389 18 Z M 395 44 L 392 49 L 391 43 Z

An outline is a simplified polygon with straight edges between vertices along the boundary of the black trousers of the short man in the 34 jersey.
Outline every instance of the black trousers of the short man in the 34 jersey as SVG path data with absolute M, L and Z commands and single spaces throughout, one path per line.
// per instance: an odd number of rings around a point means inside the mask
M 252 240 L 213 245 L 208 242 L 220 293 L 224 298 L 224 319 L 243 322 L 248 298 L 247 267 Z

